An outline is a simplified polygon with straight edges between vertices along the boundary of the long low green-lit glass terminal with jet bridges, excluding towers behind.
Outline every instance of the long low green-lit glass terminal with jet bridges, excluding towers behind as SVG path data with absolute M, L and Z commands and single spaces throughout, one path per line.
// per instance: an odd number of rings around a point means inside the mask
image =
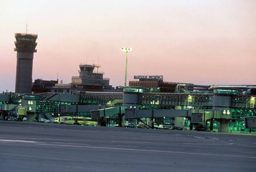
M 134 86 L 122 88 L 122 93 L 2 93 L 0 110 L 2 116 L 14 116 L 18 107 L 25 107 L 31 121 L 38 114 L 54 117 L 77 114 L 97 118 L 99 124 L 107 126 L 111 126 L 110 123 L 122 126 L 126 120 L 150 121 L 146 123 L 149 127 L 153 123 L 164 126 L 173 123 L 181 128 L 201 126 L 211 131 L 237 133 L 248 132 L 244 118 L 256 116 L 255 85 L 177 84 L 174 93 Z M 67 111 L 61 112 L 60 105 L 67 106 Z M 136 115 L 126 116 L 126 109 L 135 110 Z M 98 115 L 92 116 L 94 112 Z M 196 125 L 191 121 L 194 113 L 201 114 L 202 118 Z

